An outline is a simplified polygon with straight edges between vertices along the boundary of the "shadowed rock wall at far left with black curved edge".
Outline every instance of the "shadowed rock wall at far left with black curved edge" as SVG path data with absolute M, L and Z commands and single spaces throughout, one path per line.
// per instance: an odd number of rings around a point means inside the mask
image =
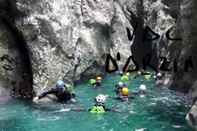
M 0 97 L 12 89 L 12 95 L 31 99 L 31 63 L 23 36 L 14 25 L 17 11 L 9 1 L 1 0 L 0 5 Z

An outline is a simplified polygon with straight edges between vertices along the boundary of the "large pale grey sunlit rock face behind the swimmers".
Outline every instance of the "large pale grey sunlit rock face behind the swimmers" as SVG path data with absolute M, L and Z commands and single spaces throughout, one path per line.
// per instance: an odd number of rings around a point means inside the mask
M 24 14 L 16 26 L 29 48 L 37 94 L 58 79 L 72 83 L 100 74 L 107 53 L 124 52 L 120 65 L 131 55 L 125 28 L 132 27 L 113 0 L 17 0 L 16 5 Z

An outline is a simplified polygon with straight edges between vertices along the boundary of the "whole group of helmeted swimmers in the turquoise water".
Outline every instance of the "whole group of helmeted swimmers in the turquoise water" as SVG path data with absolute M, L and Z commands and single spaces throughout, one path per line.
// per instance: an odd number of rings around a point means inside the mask
M 120 73 L 121 79 L 120 81 L 115 85 L 115 93 L 116 93 L 116 99 L 121 100 L 121 101 L 126 101 L 128 102 L 130 98 L 133 98 L 134 96 L 140 96 L 144 97 L 146 94 L 146 85 L 141 84 L 139 86 L 139 91 L 138 92 L 130 92 L 128 88 L 128 81 L 130 79 L 130 74 L 129 73 Z M 139 75 L 143 75 L 146 80 L 149 80 L 151 77 L 155 78 L 154 75 L 152 75 L 150 72 L 141 72 L 138 71 L 137 75 L 135 75 L 133 78 L 138 77 Z M 97 76 L 96 79 L 90 79 L 89 83 L 91 86 L 94 88 L 101 88 L 102 87 L 102 77 Z M 49 94 L 54 94 L 58 102 L 61 103 L 67 103 L 69 101 L 74 102 L 75 100 L 75 94 L 72 93 L 72 91 L 69 90 L 70 85 L 65 84 L 64 81 L 58 80 L 56 83 L 56 87 L 52 88 L 49 91 L 46 91 L 42 93 L 41 95 L 35 97 L 33 99 L 34 102 L 38 102 L 39 99 L 49 95 Z M 105 107 L 105 102 L 106 99 L 108 98 L 108 95 L 104 94 L 99 94 L 95 97 L 95 104 L 92 108 L 90 108 L 88 111 L 91 113 L 104 113 L 106 111 L 113 111 L 112 109 L 108 109 Z

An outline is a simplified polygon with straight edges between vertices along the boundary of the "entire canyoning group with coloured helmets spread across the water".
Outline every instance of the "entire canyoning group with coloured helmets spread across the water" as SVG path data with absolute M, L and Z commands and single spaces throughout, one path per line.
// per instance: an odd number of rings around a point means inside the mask
M 118 83 L 114 84 L 114 93 L 116 94 L 116 97 L 112 97 L 105 94 L 98 94 L 94 101 L 94 105 L 89 109 L 68 109 L 67 111 L 89 111 L 91 113 L 104 113 L 106 111 L 114 111 L 119 112 L 117 109 L 109 109 L 105 106 L 106 100 L 109 98 L 119 100 L 121 102 L 130 102 L 133 98 L 139 96 L 139 97 L 145 97 L 147 93 L 147 87 L 142 81 L 140 84 L 138 91 L 133 92 L 129 90 L 128 83 L 132 79 L 136 79 L 139 76 L 143 76 L 145 81 L 149 81 L 150 79 L 161 79 L 162 74 L 161 73 L 152 73 L 144 70 L 137 71 L 133 74 L 131 73 L 123 73 L 119 72 L 120 80 Z M 95 90 L 99 88 L 104 88 L 102 86 L 102 77 L 96 76 L 96 78 L 90 79 L 89 84 L 91 87 L 93 87 Z M 36 96 L 33 99 L 33 102 L 38 103 L 40 99 L 46 97 L 49 94 L 53 94 L 57 97 L 57 101 L 63 104 L 68 103 L 75 103 L 76 102 L 76 95 L 73 93 L 74 87 L 70 84 L 65 83 L 63 80 L 58 80 L 56 83 L 55 88 L 52 88 L 48 91 L 43 92 L 42 94 Z

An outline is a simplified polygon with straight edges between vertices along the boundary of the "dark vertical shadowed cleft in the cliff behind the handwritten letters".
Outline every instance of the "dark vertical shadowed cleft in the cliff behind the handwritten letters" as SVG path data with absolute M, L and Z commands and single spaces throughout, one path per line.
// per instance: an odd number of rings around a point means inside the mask
M 145 12 L 143 6 L 143 0 L 139 0 L 136 5 L 136 13 L 127 7 L 123 9 L 126 18 L 129 20 L 130 25 L 133 27 L 133 44 L 131 45 L 131 52 L 133 58 L 138 63 L 139 68 L 145 68 L 143 62 L 146 61 L 147 56 L 151 56 L 150 65 L 157 70 L 158 57 L 157 49 L 152 40 L 153 35 L 149 30 L 147 31 L 147 26 L 144 25 Z M 128 32 L 128 31 L 127 31 Z M 147 37 L 151 38 L 150 40 Z

